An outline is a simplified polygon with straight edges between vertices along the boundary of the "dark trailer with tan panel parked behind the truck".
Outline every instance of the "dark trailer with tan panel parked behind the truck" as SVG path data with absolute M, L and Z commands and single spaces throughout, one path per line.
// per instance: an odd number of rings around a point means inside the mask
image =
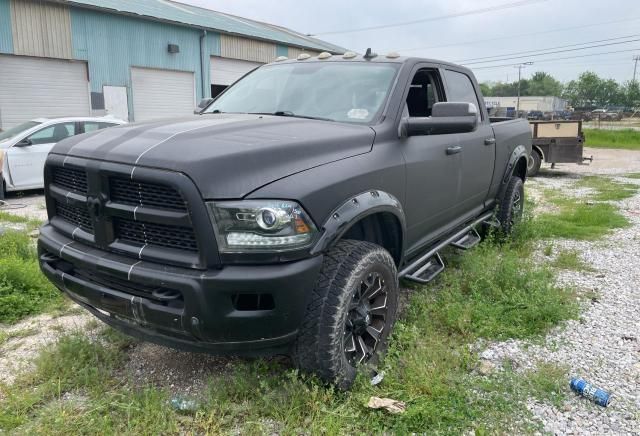
M 550 163 L 583 164 L 592 161 L 593 156 L 585 157 L 581 120 L 569 121 L 530 121 L 532 149 L 527 166 L 527 175 L 535 176 L 542 161 Z

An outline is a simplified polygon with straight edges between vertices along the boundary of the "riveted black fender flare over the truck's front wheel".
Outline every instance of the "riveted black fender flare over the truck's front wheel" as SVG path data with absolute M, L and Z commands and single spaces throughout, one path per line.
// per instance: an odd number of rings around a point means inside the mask
M 334 209 L 322 225 L 322 234 L 310 253 L 323 253 L 337 243 L 356 222 L 379 212 L 391 213 L 400 222 L 400 253 L 404 253 L 407 225 L 402 204 L 393 195 L 377 189 L 355 195 Z

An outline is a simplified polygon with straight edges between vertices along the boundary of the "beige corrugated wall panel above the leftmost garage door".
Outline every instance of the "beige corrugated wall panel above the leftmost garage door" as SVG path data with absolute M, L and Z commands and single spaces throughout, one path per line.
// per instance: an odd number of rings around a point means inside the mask
M 72 58 L 68 6 L 38 0 L 11 0 L 11 21 L 15 54 Z

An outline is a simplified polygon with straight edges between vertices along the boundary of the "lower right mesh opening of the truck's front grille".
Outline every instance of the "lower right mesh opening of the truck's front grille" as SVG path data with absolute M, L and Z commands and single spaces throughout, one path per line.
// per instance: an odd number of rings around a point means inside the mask
M 193 229 L 116 218 L 116 237 L 121 241 L 143 245 L 198 251 Z

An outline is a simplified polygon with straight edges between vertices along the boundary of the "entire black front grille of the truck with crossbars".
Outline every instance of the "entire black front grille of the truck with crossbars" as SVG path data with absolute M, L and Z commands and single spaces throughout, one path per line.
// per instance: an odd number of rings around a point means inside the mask
M 201 236 L 211 242 L 199 244 L 186 198 L 194 202 L 199 222 L 209 217 L 195 203 L 202 201 L 200 194 L 186 177 L 140 168 L 132 179 L 131 169 L 122 165 L 84 167 L 78 159 L 63 165 L 63 159 L 54 157 L 45 167 L 47 210 L 57 231 L 135 259 L 189 268 L 218 264 L 208 248 L 216 245 L 213 232 Z M 210 230 L 204 226 L 200 232 Z

